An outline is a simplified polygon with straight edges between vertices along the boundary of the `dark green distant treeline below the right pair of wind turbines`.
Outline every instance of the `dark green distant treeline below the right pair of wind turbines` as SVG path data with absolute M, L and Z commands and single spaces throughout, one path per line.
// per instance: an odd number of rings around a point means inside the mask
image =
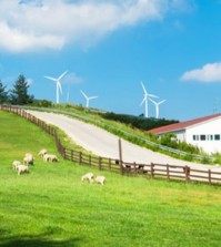
M 134 116 L 128 114 L 117 114 L 113 112 L 100 113 L 100 115 L 107 120 L 118 121 L 120 123 L 124 123 L 130 125 L 131 127 L 135 127 L 142 131 L 149 131 L 154 127 L 164 126 L 168 124 L 178 123 L 177 120 L 165 120 L 165 119 L 154 119 L 154 117 L 143 117 L 143 116 Z

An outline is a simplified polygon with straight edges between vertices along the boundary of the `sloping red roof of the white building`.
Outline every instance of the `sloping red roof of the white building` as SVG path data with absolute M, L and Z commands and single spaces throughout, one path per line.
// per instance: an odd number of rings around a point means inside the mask
M 187 127 L 190 127 L 192 125 L 195 125 L 195 124 L 199 124 L 199 123 L 212 120 L 212 119 L 217 119 L 219 116 L 221 116 L 221 113 L 199 117 L 199 119 L 195 119 L 195 120 L 189 120 L 189 121 L 185 121 L 185 122 L 169 124 L 169 125 L 161 126 L 161 127 L 155 127 L 155 128 L 150 130 L 149 132 L 153 133 L 153 134 L 163 134 L 163 133 L 168 133 L 168 132 L 183 131 Z

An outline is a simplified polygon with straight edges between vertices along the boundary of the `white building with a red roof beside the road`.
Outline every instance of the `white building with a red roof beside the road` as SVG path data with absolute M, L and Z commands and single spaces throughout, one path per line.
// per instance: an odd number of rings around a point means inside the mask
M 207 153 L 221 153 L 221 113 L 152 128 L 149 132 L 159 136 L 174 133 L 179 141 L 197 145 Z

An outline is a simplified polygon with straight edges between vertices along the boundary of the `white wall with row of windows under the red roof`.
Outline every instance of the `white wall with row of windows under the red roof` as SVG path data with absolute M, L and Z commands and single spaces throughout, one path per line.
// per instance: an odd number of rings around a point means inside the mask
M 207 153 L 221 153 L 221 117 L 187 128 L 185 142 Z

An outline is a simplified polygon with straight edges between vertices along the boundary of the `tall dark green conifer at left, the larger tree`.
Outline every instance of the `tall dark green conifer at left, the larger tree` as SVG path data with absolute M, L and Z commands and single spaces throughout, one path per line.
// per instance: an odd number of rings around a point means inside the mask
M 11 104 L 30 104 L 33 102 L 33 95 L 28 94 L 29 84 L 26 78 L 20 74 L 18 80 L 13 84 L 13 89 L 10 94 Z

